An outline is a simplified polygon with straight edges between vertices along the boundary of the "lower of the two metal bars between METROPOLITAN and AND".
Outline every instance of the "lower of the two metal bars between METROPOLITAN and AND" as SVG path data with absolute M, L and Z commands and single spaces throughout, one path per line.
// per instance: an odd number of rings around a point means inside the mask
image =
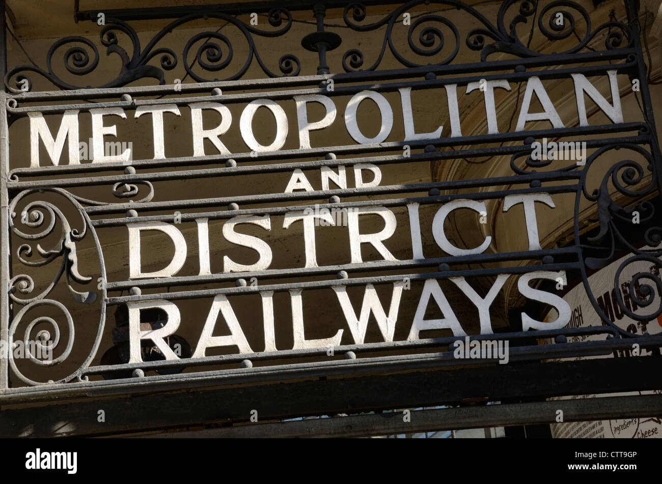
M 650 138 L 647 136 L 622 136 L 620 138 L 604 138 L 602 140 L 588 140 L 587 147 L 602 147 L 610 144 L 630 143 L 630 144 L 644 144 L 649 142 Z M 317 169 L 320 167 L 338 167 L 341 165 L 357 165 L 359 163 L 371 163 L 373 165 L 389 165 L 395 163 L 421 163 L 429 161 L 442 161 L 442 160 L 455 160 L 457 158 L 474 158 L 485 156 L 499 156 L 499 155 L 512 155 L 515 153 L 523 153 L 531 149 L 531 145 L 523 146 L 497 146 L 485 147 L 475 149 L 458 149 L 452 151 L 434 151 L 432 153 L 411 153 L 409 157 L 403 155 L 387 155 L 387 156 L 369 156 L 369 157 L 356 157 L 356 158 L 342 158 L 342 159 L 324 159 L 315 161 L 299 161 L 293 163 L 271 163 L 266 165 L 244 165 L 236 167 L 222 167 L 222 168 L 203 168 L 193 170 L 170 170 L 167 172 L 152 172 L 152 173 L 137 173 L 136 175 L 106 175 L 103 177 L 77 177 L 73 179 L 44 179 L 44 180 L 31 180 L 21 181 L 21 175 L 36 176 L 34 171 L 30 169 L 14 169 L 9 173 L 10 179 L 19 181 L 8 182 L 7 187 L 10 190 L 25 190 L 27 188 L 40 188 L 40 187 L 70 187 L 70 186 L 85 186 L 91 184 L 107 184 L 109 182 L 118 181 L 164 181 L 164 180 L 179 180 L 179 179 L 197 179 L 233 175 L 248 175 L 256 173 L 281 173 L 289 172 L 294 169 Z M 217 161 L 214 159 L 214 161 Z M 73 165 L 65 165 L 73 166 Z M 99 171 L 104 169 L 99 164 L 86 163 L 85 167 L 95 168 Z M 132 165 L 133 166 L 133 163 Z M 122 165 L 126 167 L 126 165 Z M 55 167 L 54 167 L 55 168 Z M 45 168 L 48 170 L 48 167 Z M 86 170 L 86 171 L 92 171 Z M 543 172 L 544 173 L 544 172 Z M 48 173 L 52 175 L 52 173 Z M 522 179 L 523 175 L 517 175 L 518 179 Z M 503 178 L 503 177 L 502 177 Z M 516 181 L 515 177 L 511 177 Z M 483 180 L 483 184 L 490 182 L 493 179 Z M 458 182 L 443 182 L 444 186 L 457 187 Z

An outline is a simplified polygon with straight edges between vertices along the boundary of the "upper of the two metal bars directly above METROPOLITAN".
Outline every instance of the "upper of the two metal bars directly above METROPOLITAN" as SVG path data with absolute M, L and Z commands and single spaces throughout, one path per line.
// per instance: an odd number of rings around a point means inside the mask
M 628 56 L 636 54 L 634 48 L 620 48 L 600 52 L 581 52 L 577 54 L 556 54 L 553 56 L 539 56 L 526 59 L 497 60 L 489 62 L 459 63 L 451 65 L 426 65 L 424 67 L 410 67 L 406 69 L 385 69 L 381 71 L 357 71 L 350 73 L 306 75 L 297 77 L 269 77 L 266 79 L 241 79 L 238 81 L 216 81 L 207 83 L 181 84 L 181 94 L 211 92 L 214 87 L 222 90 L 241 90 L 265 88 L 295 87 L 301 85 L 318 84 L 327 79 L 334 79 L 334 83 L 360 82 L 385 79 L 408 79 L 415 76 L 424 77 L 427 73 L 436 75 L 455 75 L 471 72 L 489 72 L 505 69 L 514 69 L 518 65 L 524 67 L 549 67 L 549 58 L 552 57 L 554 65 L 571 63 L 585 63 L 596 60 L 626 60 Z M 614 64 L 615 65 L 615 64 Z M 69 91 L 39 91 L 27 93 L 8 93 L 7 97 L 18 101 L 62 101 L 65 99 L 107 99 L 129 95 L 167 95 L 173 94 L 173 85 L 115 87 L 106 89 L 71 89 Z

